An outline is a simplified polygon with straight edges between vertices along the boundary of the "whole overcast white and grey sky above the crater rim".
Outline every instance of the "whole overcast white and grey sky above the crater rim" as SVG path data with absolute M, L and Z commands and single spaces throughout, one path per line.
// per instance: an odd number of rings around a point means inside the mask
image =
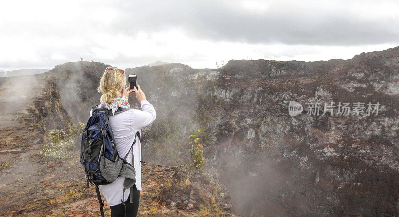
M 399 46 L 384 0 L 7 0 L 0 70 L 84 60 L 216 68 L 230 59 L 329 60 Z

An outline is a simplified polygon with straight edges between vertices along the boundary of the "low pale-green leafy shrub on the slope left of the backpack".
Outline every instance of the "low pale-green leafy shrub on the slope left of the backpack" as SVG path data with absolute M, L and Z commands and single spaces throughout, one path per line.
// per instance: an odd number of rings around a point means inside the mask
M 48 159 L 66 158 L 74 150 L 76 136 L 82 133 L 85 124 L 79 123 L 78 126 L 69 123 L 68 129 L 51 130 L 47 135 L 47 141 L 41 145 L 40 154 Z

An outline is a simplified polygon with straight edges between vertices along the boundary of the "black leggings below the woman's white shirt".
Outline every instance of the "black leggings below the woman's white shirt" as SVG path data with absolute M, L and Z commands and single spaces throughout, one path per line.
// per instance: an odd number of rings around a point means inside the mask
M 136 184 L 133 188 L 133 203 L 130 203 L 129 199 L 125 201 L 125 205 L 118 204 L 115 206 L 111 206 L 111 217 L 125 217 L 125 206 L 126 206 L 126 217 L 136 217 L 137 212 L 139 210 L 139 201 L 140 201 L 140 191 L 137 190 Z

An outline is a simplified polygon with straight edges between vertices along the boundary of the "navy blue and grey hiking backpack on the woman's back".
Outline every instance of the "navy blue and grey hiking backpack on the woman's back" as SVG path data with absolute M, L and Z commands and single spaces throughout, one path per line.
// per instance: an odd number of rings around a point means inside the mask
M 92 116 L 87 121 L 82 133 L 80 164 L 83 166 L 86 174 L 87 187 L 89 187 L 89 183 L 94 184 L 96 187 L 102 217 L 104 217 L 104 204 L 98 189 L 99 185 L 110 184 L 119 176 L 125 177 L 123 192 L 130 188 L 130 203 L 133 203 L 132 191 L 133 185 L 136 184 L 134 157 L 132 163 L 127 162 L 126 158 L 130 151 L 133 150 L 136 138 L 139 137 L 139 140 L 141 139 L 140 133 L 139 131 L 136 132 L 133 144 L 128 153 L 124 158 L 120 158 L 115 147 L 115 139 L 108 118 L 108 115 L 116 115 L 127 110 L 128 108 L 118 108 L 115 114 L 112 114 L 112 110 L 110 109 L 98 108 L 98 106 L 93 107 Z M 125 205 L 124 199 L 121 201 Z

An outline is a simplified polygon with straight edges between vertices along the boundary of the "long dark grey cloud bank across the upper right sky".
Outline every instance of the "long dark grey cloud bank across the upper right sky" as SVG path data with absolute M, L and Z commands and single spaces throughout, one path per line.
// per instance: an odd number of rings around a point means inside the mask
M 151 5 L 131 3 L 124 7 L 124 15 L 113 27 L 126 34 L 178 27 L 192 37 L 247 43 L 359 45 L 399 42 L 399 30 L 393 28 L 399 24 L 399 17 L 382 17 L 377 13 L 365 19 L 359 17 L 358 11 L 351 11 L 347 1 L 337 1 L 335 8 L 312 6 L 314 2 L 311 1 L 303 1 L 300 5 L 270 1 L 262 12 L 244 10 L 240 2 L 209 0 L 171 4 L 159 0 L 152 1 Z M 380 1 L 359 2 L 362 3 L 381 4 Z M 365 16 L 367 12 L 364 11 Z M 386 12 L 381 11 L 380 15 Z

